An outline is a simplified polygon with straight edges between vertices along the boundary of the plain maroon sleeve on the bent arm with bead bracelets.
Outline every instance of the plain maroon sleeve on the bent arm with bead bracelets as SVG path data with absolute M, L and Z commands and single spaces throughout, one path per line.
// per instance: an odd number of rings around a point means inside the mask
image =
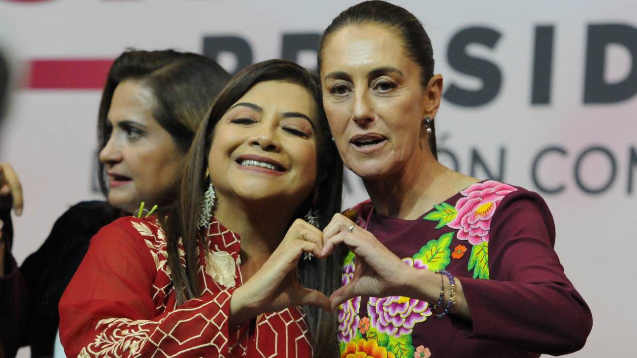
M 471 311 L 466 336 L 552 355 L 583 347 L 592 315 L 564 274 L 554 240 L 538 194 L 519 190 L 501 201 L 490 229 L 490 280 L 460 278 Z

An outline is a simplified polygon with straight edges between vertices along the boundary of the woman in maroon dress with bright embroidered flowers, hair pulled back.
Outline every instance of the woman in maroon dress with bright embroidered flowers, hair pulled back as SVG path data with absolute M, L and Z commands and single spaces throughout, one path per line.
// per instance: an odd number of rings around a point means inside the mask
M 342 243 L 351 251 L 330 297 L 341 357 L 582 348 L 590 310 L 553 250 L 544 201 L 436 159 L 443 79 L 419 20 L 385 1 L 357 4 L 327 27 L 318 60 L 336 146 L 371 197 L 324 230 L 326 252 Z

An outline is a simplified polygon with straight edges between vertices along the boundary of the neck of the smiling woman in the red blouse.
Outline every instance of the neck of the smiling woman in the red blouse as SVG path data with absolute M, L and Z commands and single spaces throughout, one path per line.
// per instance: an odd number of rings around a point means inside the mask
M 294 210 L 272 201 L 245 201 L 219 198 L 215 218 L 241 237 L 241 261 L 264 262 L 287 232 Z M 276 208 L 276 215 L 273 213 Z

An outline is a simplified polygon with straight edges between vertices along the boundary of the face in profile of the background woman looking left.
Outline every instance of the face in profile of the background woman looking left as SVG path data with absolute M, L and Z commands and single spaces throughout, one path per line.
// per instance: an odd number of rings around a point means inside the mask
M 185 153 L 153 118 L 155 97 L 138 80 L 124 80 L 113 92 L 107 120 L 111 134 L 99 152 L 108 173 L 108 201 L 130 213 L 141 201 L 150 207 L 166 197 L 183 167 Z

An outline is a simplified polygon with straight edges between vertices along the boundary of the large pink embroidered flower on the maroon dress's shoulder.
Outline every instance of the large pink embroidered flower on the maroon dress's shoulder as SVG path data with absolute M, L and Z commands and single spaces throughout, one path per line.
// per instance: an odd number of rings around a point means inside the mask
M 511 185 L 487 180 L 475 183 L 460 193 L 465 196 L 455 203 L 457 216 L 447 224 L 458 229 L 458 240 L 468 240 L 471 245 L 489 242 L 491 218 L 503 197 L 514 192 Z

